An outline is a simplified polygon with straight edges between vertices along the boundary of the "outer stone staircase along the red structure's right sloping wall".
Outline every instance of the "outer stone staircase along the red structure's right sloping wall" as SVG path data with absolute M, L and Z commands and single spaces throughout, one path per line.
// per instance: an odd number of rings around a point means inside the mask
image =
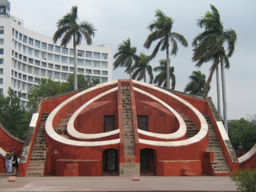
M 209 135 L 209 143 L 206 151 L 214 152 L 214 162 L 212 162 L 212 169 L 214 173 L 230 173 L 228 162 L 225 158 L 224 152 L 220 146 L 220 142 L 218 137 L 214 131 L 212 126 L 212 122 L 208 114 L 202 114 L 208 124 L 208 135 Z M 227 175 L 228 176 L 228 175 Z

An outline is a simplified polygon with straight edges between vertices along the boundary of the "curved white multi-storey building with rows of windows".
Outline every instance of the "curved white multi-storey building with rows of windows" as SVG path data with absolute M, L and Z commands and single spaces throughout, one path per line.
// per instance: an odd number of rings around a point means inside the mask
M 67 47 L 53 44 L 52 38 L 23 27 L 24 21 L 13 16 L 0 17 L 0 92 L 8 87 L 22 92 L 27 105 L 27 91 L 38 86 L 39 78 L 65 82 L 74 72 L 73 43 Z M 77 73 L 112 81 L 112 46 L 101 44 L 77 46 Z

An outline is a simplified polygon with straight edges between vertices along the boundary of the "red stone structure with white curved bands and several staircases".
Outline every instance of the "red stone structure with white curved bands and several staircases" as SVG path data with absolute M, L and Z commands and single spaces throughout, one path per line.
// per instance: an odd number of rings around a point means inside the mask
M 210 97 L 115 80 L 38 98 L 19 177 L 228 176 L 252 159 L 237 159 Z

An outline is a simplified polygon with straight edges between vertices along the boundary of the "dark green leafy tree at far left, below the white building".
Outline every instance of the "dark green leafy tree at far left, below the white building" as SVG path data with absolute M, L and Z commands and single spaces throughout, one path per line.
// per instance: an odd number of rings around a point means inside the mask
M 25 112 L 20 100 L 21 92 L 16 96 L 9 87 L 7 93 L 6 97 L 0 94 L 0 120 L 12 135 L 25 140 L 32 114 Z

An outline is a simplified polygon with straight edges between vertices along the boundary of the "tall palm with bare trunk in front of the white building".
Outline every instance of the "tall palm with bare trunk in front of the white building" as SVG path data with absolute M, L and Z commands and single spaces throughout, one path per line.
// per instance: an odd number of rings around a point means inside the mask
M 77 55 L 76 46 L 85 39 L 87 45 L 92 45 L 92 37 L 95 36 L 95 27 L 87 20 L 79 20 L 77 17 L 77 6 L 72 6 L 69 13 L 66 13 L 56 23 L 57 31 L 54 33 L 52 41 L 54 44 L 61 39 L 60 46 L 66 47 L 73 38 L 74 46 L 74 90 L 77 89 Z

